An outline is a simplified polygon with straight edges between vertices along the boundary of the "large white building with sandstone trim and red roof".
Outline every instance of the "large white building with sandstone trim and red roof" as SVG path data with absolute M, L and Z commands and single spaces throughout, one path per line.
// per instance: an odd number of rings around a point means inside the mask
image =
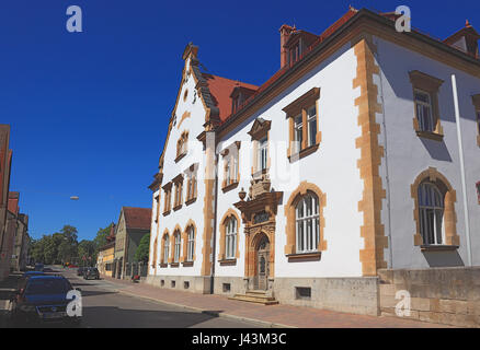
M 480 325 L 480 35 L 397 19 L 282 25 L 260 86 L 202 71 L 186 46 L 149 186 L 148 283 L 393 316 L 407 291 L 411 318 Z

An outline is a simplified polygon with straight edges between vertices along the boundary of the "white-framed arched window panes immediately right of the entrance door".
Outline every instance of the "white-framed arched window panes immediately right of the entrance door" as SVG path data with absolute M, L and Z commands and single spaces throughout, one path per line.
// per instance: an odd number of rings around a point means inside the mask
M 319 200 L 315 194 L 302 196 L 296 207 L 297 253 L 318 250 L 320 241 Z

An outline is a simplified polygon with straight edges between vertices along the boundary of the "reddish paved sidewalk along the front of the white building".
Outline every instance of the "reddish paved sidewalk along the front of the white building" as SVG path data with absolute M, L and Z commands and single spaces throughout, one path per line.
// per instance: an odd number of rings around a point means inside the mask
M 312 307 L 270 305 L 228 300 L 222 295 L 197 294 L 171 289 L 162 289 L 145 283 L 132 283 L 102 276 L 102 279 L 122 285 L 119 293 L 144 298 L 157 302 L 201 311 L 214 316 L 232 317 L 261 323 L 266 327 L 293 328 L 448 328 L 446 325 L 431 324 L 389 316 L 367 316 L 339 313 Z

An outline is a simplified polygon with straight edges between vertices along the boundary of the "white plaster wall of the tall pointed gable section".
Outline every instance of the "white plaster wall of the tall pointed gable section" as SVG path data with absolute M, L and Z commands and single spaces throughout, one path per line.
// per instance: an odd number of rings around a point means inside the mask
M 190 60 L 186 61 L 186 69 L 190 69 Z M 183 101 L 183 95 L 185 90 L 188 90 L 186 101 Z M 175 115 L 176 115 L 176 124 L 172 126 L 170 138 L 168 144 L 165 145 L 165 154 L 164 154 L 164 163 L 163 163 L 163 179 L 161 186 L 169 183 L 176 175 L 185 172 L 188 166 L 194 163 L 198 163 L 197 171 L 197 199 L 195 202 L 185 206 L 185 197 L 186 197 L 186 176 L 184 176 L 183 180 L 183 206 L 178 211 L 173 210 L 173 201 L 174 201 L 174 186 L 172 186 L 172 197 L 171 197 L 171 211 L 170 214 L 163 215 L 164 211 L 164 191 L 161 189 L 160 196 L 160 218 L 158 224 L 153 222 L 153 226 L 156 226 L 156 233 L 159 234 L 158 245 L 157 245 L 157 264 L 160 262 L 162 252 L 161 252 L 161 237 L 165 229 L 169 230 L 170 234 L 170 243 L 173 238 L 173 230 L 176 224 L 179 224 L 182 229 L 182 232 L 185 230 L 186 223 L 188 220 L 193 220 L 195 222 L 197 231 L 195 232 L 195 261 L 193 267 L 183 267 L 180 264 L 179 267 L 165 267 L 160 268 L 157 266 L 157 276 L 199 276 L 201 267 L 202 267 L 202 248 L 203 248 L 203 230 L 204 230 L 204 197 L 205 197 L 205 186 L 204 186 L 204 152 L 203 144 L 201 141 L 196 139 L 196 137 L 204 130 L 203 124 L 205 122 L 205 108 L 203 106 L 202 100 L 196 96 L 195 103 L 194 101 L 194 91 L 195 91 L 195 80 L 191 74 L 188 80 L 182 84 L 180 91 L 179 104 L 176 106 Z M 181 120 L 184 112 L 190 112 L 191 117 L 183 120 L 178 128 L 179 122 Z M 188 148 L 187 155 L 184 156 L 179 163 L 174 162 L 176 158 L 176 141 L 184 130 L 188 130 Z M 156 212 L 156 206 L 153 205 L 153 212 Z M 153 215 L 155 217 L 155 215 Z M 155 218 L 152 218 L 155 220 Z M 153 245 L 155 237 L 150 240 L 151 247 Z M 183 240 L 181 252 L 183 252 Z M 151 250 L 150 250 L 151 252 Z M 170 248 L 171 253 L 171 248 Z M 169 255 L 170 255 L 169 253 Z M 182 253 L 181 253 L 182 254 Z M 150 256 L 151 258 L 151 256 Z M 153 270 L 150 269 L 150 273 L 153 275 Z

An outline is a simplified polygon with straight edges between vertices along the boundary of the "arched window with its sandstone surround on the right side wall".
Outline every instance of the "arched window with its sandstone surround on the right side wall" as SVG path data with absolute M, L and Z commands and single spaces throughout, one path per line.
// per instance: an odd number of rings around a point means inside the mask
M 421 250 L 458 248 L 456 191 L 447 178 L 430 167 L 416 177 L 410 192 L 416 228 L 413 244 Z

